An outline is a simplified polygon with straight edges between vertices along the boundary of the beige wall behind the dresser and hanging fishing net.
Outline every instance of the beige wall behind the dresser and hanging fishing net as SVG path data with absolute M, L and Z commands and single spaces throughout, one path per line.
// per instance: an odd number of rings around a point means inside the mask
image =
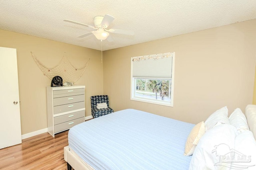
M 86 71 L 75 84 L 86 86 L 86 116 L 91 115 L 90 96 L 103 93 L 100 51 L 2 29 L 0 47 L 17 49 L 22 134 L 47 128 L 46 86 L 50 86 L 51 80 L 38 68 L 31 51 L 48 67 L 58 64 L 65 52 L 69 61 L 77 67 L 90 59 Z M 2 83 L 8 85 L 8 82 Z

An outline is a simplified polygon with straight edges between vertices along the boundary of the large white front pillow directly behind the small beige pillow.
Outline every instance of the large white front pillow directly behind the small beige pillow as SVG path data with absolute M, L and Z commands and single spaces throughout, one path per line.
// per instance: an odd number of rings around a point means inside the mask
M 234 149 L 236 128 L 221 124 L 207 131 L 198 142 L 190 161 L 189 170 L 221 170 L 230 169 L 220 157 Z

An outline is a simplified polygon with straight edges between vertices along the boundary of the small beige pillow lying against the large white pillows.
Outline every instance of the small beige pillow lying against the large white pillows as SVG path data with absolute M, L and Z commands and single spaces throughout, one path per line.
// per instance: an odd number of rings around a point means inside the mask
M 191 130 L 190 134 L 188 135 L 188 139 L 186 141 L 185 145 L 185 156 L 190 156 L 193 154 L 196 145 L 198 144 L 200 138 L 205 133 L 205 127 L 204 127 L 204 121 L 201 121 L 200 123 L 196 124 L 193 129 Z

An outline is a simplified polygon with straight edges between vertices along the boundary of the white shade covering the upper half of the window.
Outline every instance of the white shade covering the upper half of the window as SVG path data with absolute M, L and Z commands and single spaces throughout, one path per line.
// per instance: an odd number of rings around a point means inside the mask
M 172 78 L 172 53 L 132 57 L 132 76 Z

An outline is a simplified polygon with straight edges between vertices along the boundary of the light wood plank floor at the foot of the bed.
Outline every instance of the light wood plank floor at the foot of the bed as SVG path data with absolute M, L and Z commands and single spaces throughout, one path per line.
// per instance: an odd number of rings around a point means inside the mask
M 0 149 L 3 170 L 66 170 L 63 148 L 68 146 L 68 131 L 52 137 L 43 133 L 22 140 L 22 143 Z

